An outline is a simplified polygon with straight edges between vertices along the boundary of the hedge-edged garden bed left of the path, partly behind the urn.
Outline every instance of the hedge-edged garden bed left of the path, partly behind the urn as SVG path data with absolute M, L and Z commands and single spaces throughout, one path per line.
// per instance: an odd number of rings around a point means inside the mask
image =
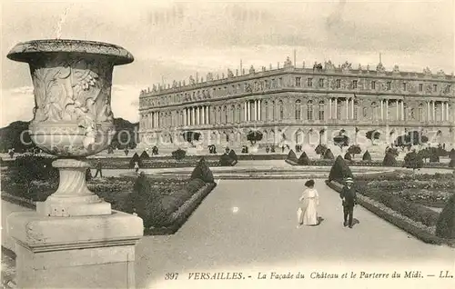
M 42 168 L 46 169 L 49 168 Z M 56 174 L 46 174 L 45 180 L 30 176 L 30 182 L 26 183 L 18 182 L 15 173 L 6 171 L 1 175 L 2 199 L 15 204 L 35 208 L 35 202 L 45 201 L 58 187 Z M 189 178 L 149 178 L 140 174 L 95 178 L 87 186 L 109 202 L 113 210 L 138 214 L 144 221 L 145 234 L 174 234 L 216 184 L 207 163 L 201 159 Z

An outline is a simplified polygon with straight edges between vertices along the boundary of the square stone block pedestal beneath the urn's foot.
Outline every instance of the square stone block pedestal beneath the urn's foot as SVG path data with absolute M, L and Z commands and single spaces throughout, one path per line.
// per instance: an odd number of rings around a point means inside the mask
M 25 212 L 10 214 L 7 225 L 18 288 L 135 288 L 135 245 L 144 230 L 135 215 Z

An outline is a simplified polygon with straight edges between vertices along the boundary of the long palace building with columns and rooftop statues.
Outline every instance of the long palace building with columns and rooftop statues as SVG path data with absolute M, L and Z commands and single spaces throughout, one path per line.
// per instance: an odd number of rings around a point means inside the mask
M 353 69 L 330 61 L 306 68 L 288 58 L 282 68 L 251 66 L 248 73 L 227 70 L 227 75 L 207 74 L 206 80 L 190 76 L 187 84 L 143 90 L 139 141 L 171 144 L 181 132 L 196 131 L 207 143 L 246 145 L 246 133 L 258 129 L 261 143 L 302 144 L 324 134 L 329 144 L 330 135 L 341 130 L 357 138 L 375 129 L 386 143 L 387 137 L 418 130 L 431 142 L 450 145 L 455 143 L 454 86 L 453 74 L 429 68 L 401 72 L 395 65 L 388 71 L 379 62 L 374 69 Z

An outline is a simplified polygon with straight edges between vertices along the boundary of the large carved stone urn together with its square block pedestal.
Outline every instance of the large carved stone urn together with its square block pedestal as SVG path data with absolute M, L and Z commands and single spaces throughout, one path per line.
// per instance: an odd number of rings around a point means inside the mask
M 19 288 L 134 288 L 139 217 L 111 210 L 86 186 L 84 160 L 106 149 L 115 133 L 110 109 L 114 65 L 133 56 L 124 48 L 77 40 L 15 45 L 8 58 L 30 65 L 35 145 L 58 159 L 58 189 L 35 212 L 10 214 Z

